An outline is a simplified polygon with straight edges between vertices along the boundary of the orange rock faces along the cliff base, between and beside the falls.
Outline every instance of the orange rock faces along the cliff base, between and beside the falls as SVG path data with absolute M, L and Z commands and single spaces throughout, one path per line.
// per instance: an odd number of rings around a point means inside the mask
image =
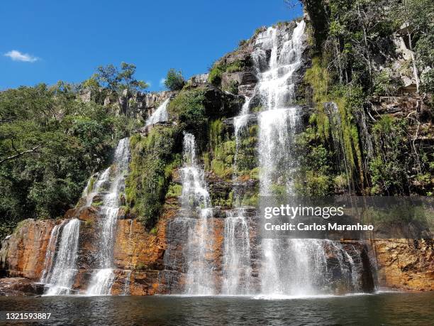
M 153 295 L 157 293 L 182 293 L 185 286 L 187 266 L 183 258 L 186 239 L 179 234 L 182 229 L 169 229 L 179 212 L 172 203 L 166 205 L 154 231 L 149 232 L 136 219 L 118 219 L 116 241 L 113 248 L 116 266 L 112 287 L 114 295 Z M 93 269 L 96 268 L 96 241 L 101 216 L 94 207 L 70 210 L 67 217 L 79 218 L 79 249 L 77 267 L 79 272 L 73 288 L 84 292 L 89 284 Z M 0 250 L 1 268 L 8 276 L 40 279 L 45 264 L 45 253 L 50 241 L 55 220 L 28 219 L 17 231 L 3 241 Z M 224 218 L 211 217 L 206 261 L 212 262 L 213 279 L 216 288 L 221 287 L 223 265 Z M 196 225 L 200 227 L 200 223 Z M 169 232 L 170 231 L 170 232 Z M 178 241 L 169 248 L 168 234 Z M 257 240 L 257 229 L 251 229 L 252 246 Z M 185 234 L 184 234 L 185 236 Z M 345 244 L 344 244 L 345 245 Z M 352 244 L 354 245 L 354 244 Z M 434 243 L 431 240 L 408 241 L 406 239 L 382 239 L 372 242 L 377 257 L 379 285 L 408 290 L 434 290 Z M 173 266 L 165 266 L 165 253 L 171 251 Z M 257 274 L 256 260 L 252 270 Z M 173 286 L 175 284 L 175 286 Z M 171 292 L 173 291 L 173 292 Z

